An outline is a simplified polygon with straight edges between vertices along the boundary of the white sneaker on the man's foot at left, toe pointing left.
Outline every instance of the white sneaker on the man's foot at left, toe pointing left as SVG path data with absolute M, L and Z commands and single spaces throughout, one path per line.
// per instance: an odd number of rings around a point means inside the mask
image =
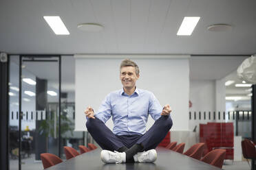
M 100 158 L 105 163 L 119 164 L 126 161 L 126 154 L 125 152 L 103 150 L 100 152 Z

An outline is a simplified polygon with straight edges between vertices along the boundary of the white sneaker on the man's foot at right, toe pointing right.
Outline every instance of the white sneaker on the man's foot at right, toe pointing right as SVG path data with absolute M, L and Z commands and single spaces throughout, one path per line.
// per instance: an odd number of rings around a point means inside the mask
M 134 161 L 143 162 L 143 163 L 147 163 L 147 162 L 152 163 L 156 161 L 157 157 L 158 157 L 158 154 L 156 153 L 156 149 L 150 149 L 148 151 L 138 152 L 138 154 L 134 156 Z

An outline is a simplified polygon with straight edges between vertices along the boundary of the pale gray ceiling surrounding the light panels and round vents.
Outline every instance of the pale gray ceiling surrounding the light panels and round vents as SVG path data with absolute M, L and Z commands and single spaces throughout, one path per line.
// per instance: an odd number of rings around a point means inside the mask
M 0 2 L 0 51 L 7 53 L 256 53 L 256 1 L 22 0 Z M 61 16 L 69 36 L 56 36 L 43 16 Z M 184 16 L 200 16 L 191 36 L 177 36 Z M 102 32 L 82 32 L 99 23 Z M 206 27 L 226 23 L 228 32 Z

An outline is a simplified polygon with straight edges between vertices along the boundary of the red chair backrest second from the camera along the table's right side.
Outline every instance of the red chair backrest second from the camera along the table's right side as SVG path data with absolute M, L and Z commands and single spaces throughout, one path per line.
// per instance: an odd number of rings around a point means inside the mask
M 190 156 L 191 158 L 200 160 L 202 157 L 202 152 L 204 151 L 204 147 L 206 147 L 205 143 L 196 143 L 187 151 L 185 151 L 184 154 L 186 156 Z

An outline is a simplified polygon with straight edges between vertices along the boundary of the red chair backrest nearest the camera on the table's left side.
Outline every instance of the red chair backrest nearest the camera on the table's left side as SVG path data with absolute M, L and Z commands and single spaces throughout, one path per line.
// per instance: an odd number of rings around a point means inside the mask
M 45 153 L 45 154 L 41 154 L 41 160 L 43 162 L 43 169 L 47 169 L 49 167 L 52 167 L 58 163 L 63 162 L 63 160 L 61 160 L 61 158 L 58 158 L 58 156 L 54 155 L 54 154 L 49 154 L 49 153 Z

